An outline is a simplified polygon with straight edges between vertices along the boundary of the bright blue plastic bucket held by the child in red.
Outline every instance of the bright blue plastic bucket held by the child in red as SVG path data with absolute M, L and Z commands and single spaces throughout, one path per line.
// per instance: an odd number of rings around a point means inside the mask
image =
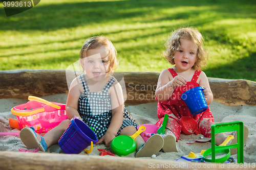
M 203 87 L 194 87 L 181 94 L 181 100 L 185 101 L 191 114 L 199 114 L 208 109 L 204 98 Z

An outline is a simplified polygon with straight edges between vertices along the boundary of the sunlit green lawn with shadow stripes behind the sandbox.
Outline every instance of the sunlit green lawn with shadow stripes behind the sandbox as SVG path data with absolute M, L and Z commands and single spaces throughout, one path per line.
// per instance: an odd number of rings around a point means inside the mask
M 10 17 L 1 4 L 0 70 L 66 69 L 84 40 L 102 35 L 117 49 L 117 71 L 161 71 L 171 67 L 166 39 L 186 26 L 205 37 L 208 77 L 256 81 L 255 0 L 44 0 Z

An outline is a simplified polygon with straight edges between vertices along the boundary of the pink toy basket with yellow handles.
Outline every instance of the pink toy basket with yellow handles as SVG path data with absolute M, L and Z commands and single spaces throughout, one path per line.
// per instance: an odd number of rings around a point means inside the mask
M 15 106 L 11 113 L 17 116 L 20 129 L 35 128 L 36 133 L 45 133 L 68 118 L 66 105 L 48 102 L 35 96 L 29 96 L 29 102 Z

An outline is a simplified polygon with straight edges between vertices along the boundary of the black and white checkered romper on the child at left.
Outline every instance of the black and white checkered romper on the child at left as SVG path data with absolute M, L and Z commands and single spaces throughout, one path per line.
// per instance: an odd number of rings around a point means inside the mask
M 80 93 L 78 100 L 78 112 L 84 123 L 89 127 L 93 127 L 94 132 L 98 139 L 100 139 L 110 126 L 112 113 L 111 113 L 111 99 L 108 93 L 109 89 L 112 87 L 115 81 L 112 77 L 109 82 L 105 85 L 103 90 L 98 92 L 90 92 L 86 78 L 84 75 L 80 75 L 79 79 L 81 81 L 84 92 Z M 132 116 L 124 108 L 123 110 L 123 123 L 117 135 L 126 126 L 134 126 L 137 128 L 137 124 L 134 122 Z

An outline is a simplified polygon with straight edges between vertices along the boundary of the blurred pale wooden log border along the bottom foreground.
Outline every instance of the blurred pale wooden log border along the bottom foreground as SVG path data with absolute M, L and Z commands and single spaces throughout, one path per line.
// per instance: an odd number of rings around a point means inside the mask
M 127 158 L 113 156 L 88 156 L 82 154 L 22 153 L 0 151 L 0 169 L 5 170 L 62 170 L 62 169 L 216 169 L 226 170 L 231 165 L 223 163 L 193 163 L 169 160 Z M 255 167 L 254 167 L 255 168 Z M 252 165 L 240 164 L 232 169 L 254 169 Z

